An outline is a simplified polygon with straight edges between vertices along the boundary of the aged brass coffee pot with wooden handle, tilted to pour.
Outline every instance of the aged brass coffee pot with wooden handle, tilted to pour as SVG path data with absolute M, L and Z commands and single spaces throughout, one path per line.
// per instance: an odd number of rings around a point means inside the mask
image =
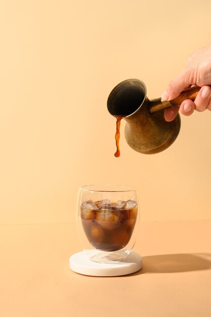
M 180 105 L 185 99 L 194 101 L 199 90 L 200 87 L 191 87 L 171 101 L 161 98 L 149 100 L 145 84 L 129 79 L 114 87 L 108 97 L 107 108 L 113 116 L 126 120 L 125 139 L 135 151 L 154 154 L 169 147 L 180 132 L 179 113 L 173 121 L 166 122 L 164 109 Z

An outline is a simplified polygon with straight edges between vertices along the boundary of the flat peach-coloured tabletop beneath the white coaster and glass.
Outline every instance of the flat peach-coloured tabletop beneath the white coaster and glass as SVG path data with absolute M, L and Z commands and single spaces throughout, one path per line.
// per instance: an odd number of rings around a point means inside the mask
M 0 226 L 1 317 L 210 317 L 211 221 L 141 222 L 143 269 L 77 274 L 75 223 Z

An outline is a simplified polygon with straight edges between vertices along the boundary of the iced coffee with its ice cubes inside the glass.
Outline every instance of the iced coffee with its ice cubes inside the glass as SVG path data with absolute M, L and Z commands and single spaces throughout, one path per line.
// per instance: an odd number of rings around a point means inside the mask
M 137 219 L 137 203 L 85 201 L 80 206 L 83 230 L 90 244 L 101 251 L 118 251 L 130 241 Z

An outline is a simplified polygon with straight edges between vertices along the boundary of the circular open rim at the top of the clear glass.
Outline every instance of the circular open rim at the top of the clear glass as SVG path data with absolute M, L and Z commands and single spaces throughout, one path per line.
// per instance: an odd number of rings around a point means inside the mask
M 93 188 L 92 188 L 93 187 Z M 99 187 L 99 189 L 95 189 L 94 187 Z M 102 188 L 100 188 L 102 187 Z M 113 187 L 115 189 L 106 189 L 106 187 Z M 79 189 L 85 191 L 92 191 L 92 192 L 129 192 L 129 191 L 136 191 L 136 188 L 133 186 L 127 185 L 119 185 L 119 184 L 87 184 L 82 185 Z

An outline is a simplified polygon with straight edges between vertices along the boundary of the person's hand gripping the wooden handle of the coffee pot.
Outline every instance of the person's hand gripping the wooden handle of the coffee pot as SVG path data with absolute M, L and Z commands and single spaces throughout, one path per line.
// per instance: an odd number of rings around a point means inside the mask
M 179 109 L 184 115 L 191 115 L 194 110 L 211 111 L 211 87 L 207 86 L 211 85 L 211 44 L 197 50 L 189 57 L 182 72 L 168 84 L 162 93 L 161 99 L 172 100 L 183 90 L 194 85 L 201 87 L 195 101 L 184 100 L 180 106 L 165 109 L 166 121 L 174 120 Z

